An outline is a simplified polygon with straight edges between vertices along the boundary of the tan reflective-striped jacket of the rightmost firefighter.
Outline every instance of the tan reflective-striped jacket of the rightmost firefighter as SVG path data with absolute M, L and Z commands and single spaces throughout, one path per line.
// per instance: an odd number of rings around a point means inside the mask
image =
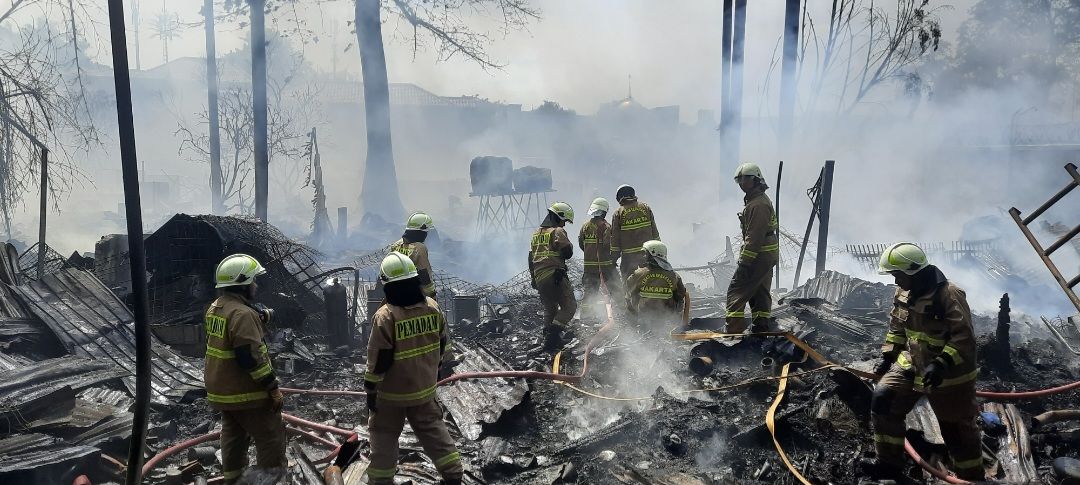
M 978 375 L 975 337 L 963 289 L 945 283 L 914 301 L 909 295 L 910 292 L 896 288 L 889 333 L 881 350 L 903 351 L 896 363 L 915 373 L 917 390 L 922 389 L 922 374 L 933 361 L 945 366 L 942 388 L 974 380 Z

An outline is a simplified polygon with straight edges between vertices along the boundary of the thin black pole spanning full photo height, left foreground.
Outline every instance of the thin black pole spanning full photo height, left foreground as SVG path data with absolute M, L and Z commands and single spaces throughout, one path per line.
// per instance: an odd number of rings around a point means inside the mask
M 131 261 L 135 310 L 135 412 L 127 448 L 127 485 L 141 483 L 143 447 L 150 407 L 150 327 L 146 294 L 146 252 L 143 247 L 143 206 L 138 190 L 135 154 L 135 122 L 132 119 L 132 85 L 127 72 L 127 36 L 124 32 L 123 0 L 109 0 L 109 31 L 112 39 L 112 78 L 117 90 L 117 124 L 120 131 L 120 163 L 124 180 L 127 216 L 127 257 Z

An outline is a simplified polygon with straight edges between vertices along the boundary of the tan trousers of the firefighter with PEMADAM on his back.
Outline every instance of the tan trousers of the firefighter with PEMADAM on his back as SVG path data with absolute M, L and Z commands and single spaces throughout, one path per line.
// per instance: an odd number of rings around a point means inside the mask
M 423 446 L 423 453 L 435 463 L 443 480 L 460 480 L 464 474 L 461 455 L 454 444 L 443 409 L 435 400 L 417 406 L 379 406 L 367 419 L 372 441 L 372 464 L 367 468 L 368 484 L 393 484 L 397 473 L 397 439 L 408 419 L 413 433 Z

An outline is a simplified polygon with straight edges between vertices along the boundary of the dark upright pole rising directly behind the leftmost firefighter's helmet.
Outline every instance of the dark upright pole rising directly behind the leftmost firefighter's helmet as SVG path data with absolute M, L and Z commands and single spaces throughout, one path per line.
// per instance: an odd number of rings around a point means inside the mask
M 252 109 L 255 122 L 255 216 L 267 220 L 270 159 L 267 149 L 266 0 L 248 0 L 252 9 Z

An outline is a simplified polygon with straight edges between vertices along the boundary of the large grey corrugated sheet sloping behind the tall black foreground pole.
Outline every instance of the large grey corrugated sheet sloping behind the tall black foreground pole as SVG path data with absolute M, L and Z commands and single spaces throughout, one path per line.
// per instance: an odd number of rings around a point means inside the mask
M 23 302 L 75 355 L 135 371 L 134 316 L 92 273 L 64 269 L 15 287 Z M 202 369 L 153 340 L 151 382 L 159 402 L 202 390 Z M 135 379 L 124 379 L 134 395 Z

